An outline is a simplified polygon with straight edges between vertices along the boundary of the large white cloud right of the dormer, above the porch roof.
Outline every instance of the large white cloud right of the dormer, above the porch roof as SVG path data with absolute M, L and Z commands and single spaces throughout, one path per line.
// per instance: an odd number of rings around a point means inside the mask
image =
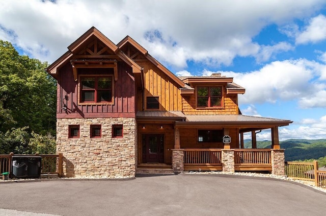
M 306 59 L 275 61 L 248 73 L 222 72 L 246 88 L 246 94 L 239 96 L 239 104 L 298 100 L 303 108 L 326 106 L 320 98 L 325 97 L 324 74 L 325 65 Z

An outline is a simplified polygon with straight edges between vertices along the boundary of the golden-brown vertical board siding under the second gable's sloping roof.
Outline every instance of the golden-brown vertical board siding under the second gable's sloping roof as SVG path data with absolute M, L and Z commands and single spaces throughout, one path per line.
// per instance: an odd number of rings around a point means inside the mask
M 137 62 L 144 68 L 144 106 L 143 100 L 138 103 L 138 110 L 146 110 L 146 97 L 159 97 L 159 110 L 181 111 L 182 97 L 177 84 L 150 62 Z M 138 98 L 143 98 L 143 93 L 138 91 Z

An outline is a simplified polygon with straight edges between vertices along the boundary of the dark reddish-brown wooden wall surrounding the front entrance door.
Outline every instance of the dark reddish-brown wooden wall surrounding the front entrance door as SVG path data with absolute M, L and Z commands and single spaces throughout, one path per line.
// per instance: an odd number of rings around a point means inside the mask
M 145 126 L 145 129 L 143 128 Z M 163 126 L 161 129 L 160 126 Z M 172 163 L 172 149 L 174 149 L 173 124 L 138 124 L 138 164 L 143 163 L 143 134 L 164 134 L 164 163 Z

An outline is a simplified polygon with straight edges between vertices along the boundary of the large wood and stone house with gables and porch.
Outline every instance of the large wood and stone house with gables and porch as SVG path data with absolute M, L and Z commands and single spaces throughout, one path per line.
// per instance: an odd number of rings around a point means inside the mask
M 131 37 L 114 44 L 94 27 L 47 71 L 58 81 L 66 177 L 132 178 L 151 167 L 284 175 L 278 127 L 291 122 L 241 115 L 245 89 L 233 78 L 176 77 Z M 271 149 L 256 149 L 263 129 L 271 130 Z M 253 149 L 243 149 L 246 132 Z

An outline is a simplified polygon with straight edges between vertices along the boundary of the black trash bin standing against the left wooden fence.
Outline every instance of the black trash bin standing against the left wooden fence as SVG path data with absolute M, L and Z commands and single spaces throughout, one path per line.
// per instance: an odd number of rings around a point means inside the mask
M 12 178 L 41 178 L 42 157 L 34 155 L 12 156 Z

